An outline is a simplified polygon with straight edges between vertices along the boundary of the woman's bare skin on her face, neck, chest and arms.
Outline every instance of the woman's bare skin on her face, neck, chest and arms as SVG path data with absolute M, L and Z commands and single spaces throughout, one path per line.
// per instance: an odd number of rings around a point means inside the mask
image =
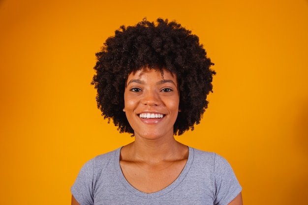
M 181 112 L 179 101 L 175 74 L 163 70 L 162 77 L 160 70 L 145 67 L 128 75 L 123 112 L 135 141 L 121 149 L 120 166 L 126 180 L 139 191 L 153 193 L 167 187 L 185 167 L 188 147 L 173 136 Z M 154 114 L 154 118 L 140 114 Z M 79 205 L 73 196 L 72 205 Z M 229 205 L 243 205 L 241 193 Z

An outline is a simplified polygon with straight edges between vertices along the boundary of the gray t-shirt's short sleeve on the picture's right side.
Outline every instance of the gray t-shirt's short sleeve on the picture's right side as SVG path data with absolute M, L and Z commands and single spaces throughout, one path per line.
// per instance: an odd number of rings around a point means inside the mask
M 215 154 L 214 175 L 216 199 L 214 205 L 228 205 L 242 191 L 230 164 L 223 157 Z

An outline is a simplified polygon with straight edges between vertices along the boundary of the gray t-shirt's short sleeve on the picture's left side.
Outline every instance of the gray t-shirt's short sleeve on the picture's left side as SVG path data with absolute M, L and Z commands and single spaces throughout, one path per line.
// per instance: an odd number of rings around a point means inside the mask
M 80 205 L 93 205 L 93 159 L 79 171 L 71 193 Z

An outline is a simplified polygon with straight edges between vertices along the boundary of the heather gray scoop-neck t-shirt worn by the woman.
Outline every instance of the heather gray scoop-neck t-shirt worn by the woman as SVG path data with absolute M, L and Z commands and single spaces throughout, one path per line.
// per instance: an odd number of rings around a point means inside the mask
M 229 163 L 216 153 L 188 148 L 182 173 L 160 191 L 147 194 L 127 182 L 120 147 L 88 161 L 71 193 L 80 205 L 228 205 L 242 191 Z

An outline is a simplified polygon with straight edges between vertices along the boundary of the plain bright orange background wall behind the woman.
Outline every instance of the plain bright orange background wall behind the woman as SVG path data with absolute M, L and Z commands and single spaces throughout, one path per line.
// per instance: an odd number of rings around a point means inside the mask
M 0 0 L 0 205 L 70 204 L 81 166 L 133 140 L 90 82 L 105 39 L 144 17 L 177 20 L 215 62 L 209 109 L 177 139 L 224 156 L 245 205 L 308 205 L 308 1 L 189 2 Z

